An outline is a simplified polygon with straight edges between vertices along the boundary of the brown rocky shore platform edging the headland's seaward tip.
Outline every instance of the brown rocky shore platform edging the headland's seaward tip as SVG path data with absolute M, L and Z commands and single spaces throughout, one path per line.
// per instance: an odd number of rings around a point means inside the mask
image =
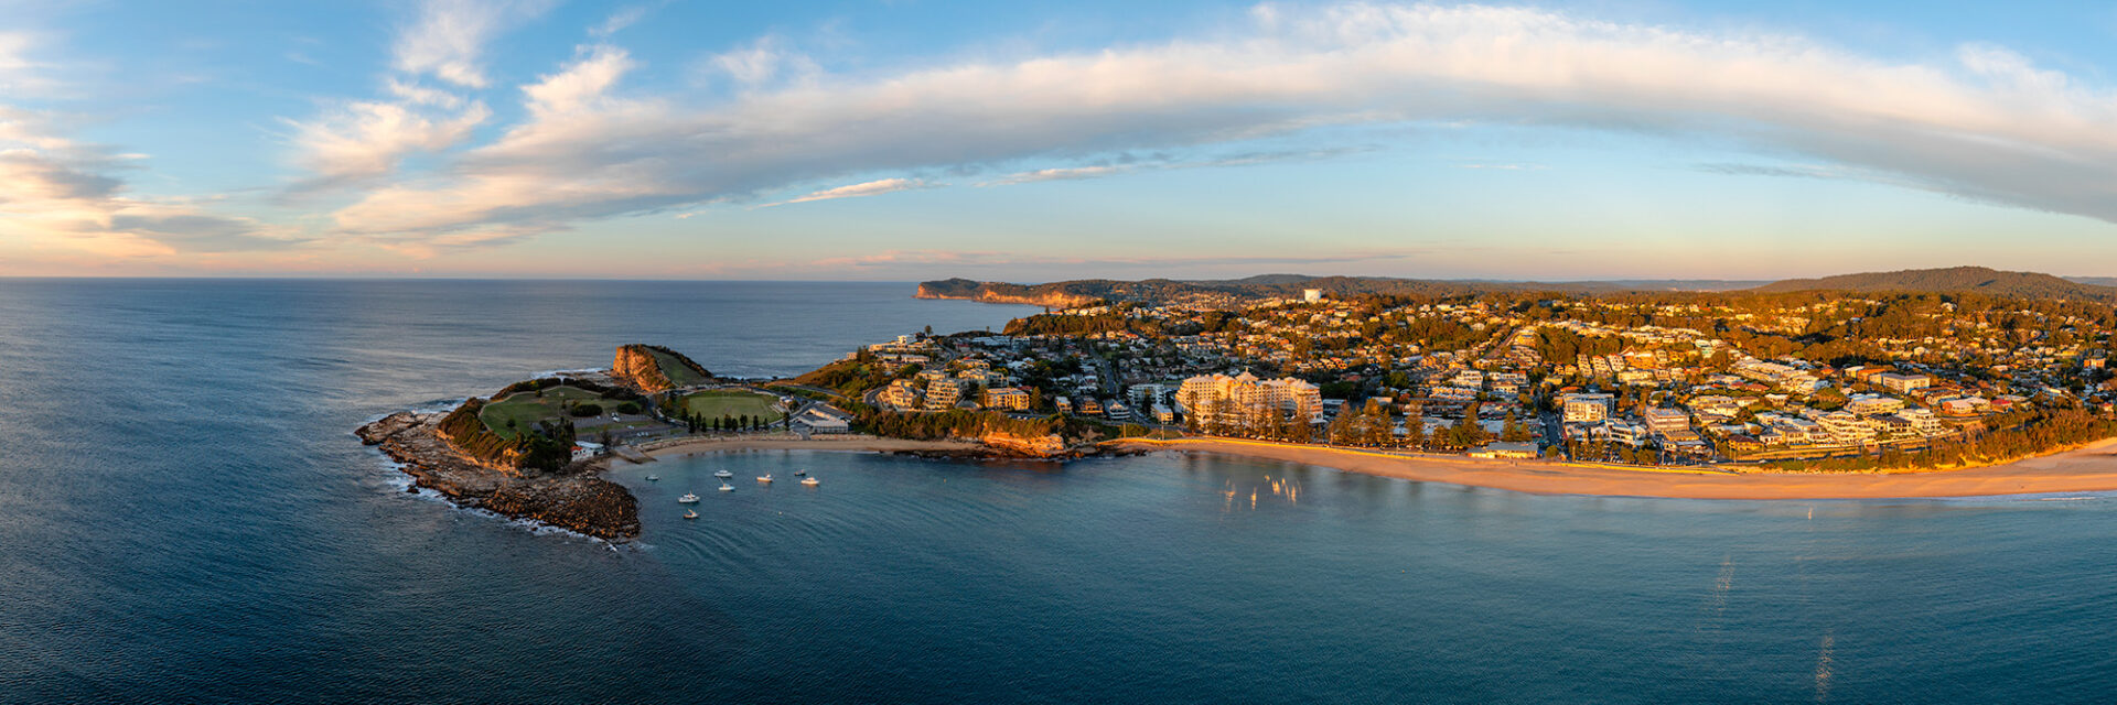
M 622 485 L 597 476 L 591 464 L 574 464 L 553 474 L 485 466 L 434 432 L 440 419 L 438 413 L 398 411 L 360 426 L 354 434 L 398 462 L 404 474 L 411 474 L 415 489 L 434 489 L 457 506 L 601 540 L 639 536 L 639 502 Z

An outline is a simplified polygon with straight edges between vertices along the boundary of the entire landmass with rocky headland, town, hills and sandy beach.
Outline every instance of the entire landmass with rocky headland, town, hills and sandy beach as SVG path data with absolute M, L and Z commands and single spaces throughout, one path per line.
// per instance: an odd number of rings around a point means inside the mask
M 2117 288 L 1977 267 L 1789 282 L 925 282 L 1035 303 L 790 379 L 622 345 L 360 428 L 464 506 L 599 538 L 620 462 L 741 449 L 1205 451 L 1535 493 L 2117 491 Z

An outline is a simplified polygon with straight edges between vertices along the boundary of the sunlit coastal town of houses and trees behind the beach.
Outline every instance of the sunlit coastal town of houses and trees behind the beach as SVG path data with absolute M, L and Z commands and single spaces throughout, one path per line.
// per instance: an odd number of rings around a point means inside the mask
M 1120 434 L 1613 464 L 1888 468 L 2109 428 L 2109 305 L 1982 294 L 1624 292 L 1097 301 L 904 335 L 830 368 L 862 406 Z

